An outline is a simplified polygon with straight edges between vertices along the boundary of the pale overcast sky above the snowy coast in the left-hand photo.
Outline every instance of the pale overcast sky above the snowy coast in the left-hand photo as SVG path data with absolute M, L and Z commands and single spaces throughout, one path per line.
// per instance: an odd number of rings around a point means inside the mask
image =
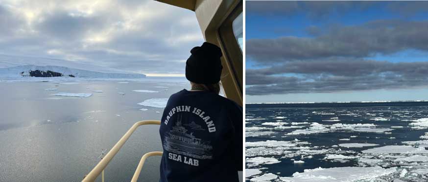
M 8 63 L 19 56 L 184 74 L 202 42 L 194 12 L 154 0 L 0 0 L 0 57 Z

